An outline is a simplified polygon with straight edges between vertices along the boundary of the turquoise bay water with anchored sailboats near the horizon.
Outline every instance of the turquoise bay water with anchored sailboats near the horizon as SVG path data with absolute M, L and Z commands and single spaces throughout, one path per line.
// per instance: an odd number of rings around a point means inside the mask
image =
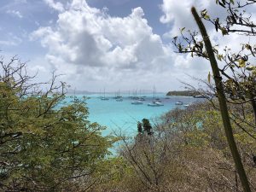
M 90 122 L 97 122 L 100 125 L 107 126 L 103 131 L 103 135 L 112 134 L 114 132 L 120 134 L 137 133 L 137 121 L 143 118 L 149 119 L 151 122 L 159 118 L 160 115 L 172 110 L 173 108 L 185 108 L 183 105 L 175 105 L 175 102 L 181 101 L 183 104 L 198 102 L 201 99 L 195 99 L 189 96 L 166 96 L 163 93 L 156 93 L 155 98 L 159 98 L 164 106 L 150 107 L 148 103 L 154 100 L 153 94 L 144 94 L 143 104 L 133 105 L 132 100 L 128 94 L 123 96 L 123 102 L 117 102 L 114 99 L 114 94 L 106 94 L 109 98 L 107 101 L 102 101 L 99 95 L 76 95 L 78 98 L 86 96 L 87 107 L 89 108 Z M 67 98 L 72 100 L 72 96 Z

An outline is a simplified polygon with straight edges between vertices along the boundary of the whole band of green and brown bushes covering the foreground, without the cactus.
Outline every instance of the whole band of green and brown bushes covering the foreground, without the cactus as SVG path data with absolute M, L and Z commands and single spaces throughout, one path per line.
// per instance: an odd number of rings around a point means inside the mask
M 1 190 L 241 191 L 217 102 L 175 109 L 138 122 L 136 137 L 114 140 L 87 120 L 84 101 L 65 103 L 65 84 L 40 90 L 15 58 L 1 70 Z M 55 76 L 53 76 L 55 80 Z M 44 87 L 48 84 L 40 84 Z M 213 105 L 212 105 L 213 104 Z M 250 103 L 229 104 L 237 148 L 256 189 L 256 133 Z M 237 119 L 236 119 L 237 120 Z M 246 131 L 244 131 L 246 130 Z

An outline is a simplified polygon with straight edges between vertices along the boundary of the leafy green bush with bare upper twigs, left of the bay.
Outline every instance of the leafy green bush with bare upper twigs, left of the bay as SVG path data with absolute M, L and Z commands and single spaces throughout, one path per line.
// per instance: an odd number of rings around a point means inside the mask
M 1 191 L 77 191 L 100 177 L 109 154 L 110 137 L 87 120 L 84 101 L 65 100 L 65 84 L 32 84 L 26 63 L 1 61 L 0 188 Z M 49 85 L 48 89 L 40 87 Z M 80 181 L 83 181 L 82 184 Z

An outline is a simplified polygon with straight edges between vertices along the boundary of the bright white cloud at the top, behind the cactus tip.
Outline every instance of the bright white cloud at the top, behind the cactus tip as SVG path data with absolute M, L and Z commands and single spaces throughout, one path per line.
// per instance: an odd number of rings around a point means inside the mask
M 242 3 L 242 2 L 241 2 Z M 187 1 L 175 1 L 175 0 L 163 0 L 163 3 L 160 5 L 163 15 L 160 16 L 160 22 L 170 26 L 170 31 L 166 32 L 164 37 L 172 38 L 180 34 L 180 29 L 186 27 L 190 31 L 198 31 L 198 27 L 195 25 L 195 20 L 191 14 L 190 9 L 192 6 L 195 6 L 198 12 L 203 9 L 207 9 L 207 14 L 210 15 L 212 19 L 218 18 L 220 23 L 226 19 L 227 10 L 216 4 L 215 1 L 196 1 L 196 0 L 187 0 Z M 250 16 L 252 20 L 256 19 L 254 14 L 254 7 L 247 6 L 247 13 L 243 16 Z M 231 33 L 229 36 L 221 38 L 219 34 L 221 32 L 215 31 L 215 26 L 212 23 L 203 20 L 207 26 L 207 32 L 211 34 L 212 39 L 224 39 L 230 38 L 234 35 Z M 235 27 L 235 26 L 232 26 Z M 235 35 L 236 36 L 236 35 Z M 234 36 L 234 37 L 235 37 Z M 232 37 L 233 38 L 233 37 Z

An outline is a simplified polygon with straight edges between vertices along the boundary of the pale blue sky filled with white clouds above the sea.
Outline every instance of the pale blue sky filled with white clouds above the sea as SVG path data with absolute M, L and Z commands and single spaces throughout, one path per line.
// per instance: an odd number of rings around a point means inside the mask
M 215 0 L 1 0 L 1 54 L 18 55 L 37 81 L 55 71 L 77 90 L 183 90 L 210 71 L 172 45 L 183 26 L 196 29 L 192 5 L 224 18 Z M 245 40 L 207 29 L 213 44 Z

